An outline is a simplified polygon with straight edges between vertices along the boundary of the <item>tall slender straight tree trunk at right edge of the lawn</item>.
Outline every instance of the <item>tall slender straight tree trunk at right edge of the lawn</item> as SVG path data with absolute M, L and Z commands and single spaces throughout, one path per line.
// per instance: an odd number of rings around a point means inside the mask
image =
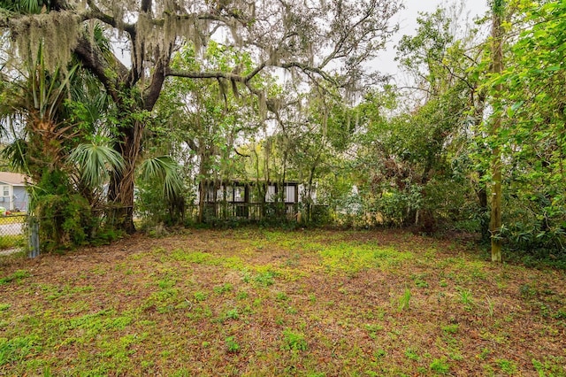
M 505 9 L 504 0 L 494 0 L 492 5 L 493 12 L 493 74 L 498 75 L 503 68 L 503 49 L 502 49 L 502 35 L 503 29 L 501 27 L 502 14 Z M 491 134 L 497 137 L 501 127 L 501 116 L 498 111 L 501 104 L 498 104 L 501 95 L 501 84 L 495 86 L 495 93 L 493 101 L 495 103 L 495 115 L 493 119 L 493 126 Z M 499 145 L 495 145 L 492 150 L 492 213 L 490 221 L 490 232 L 492 236 L 492 261 L 501 262 L 501 149 Z

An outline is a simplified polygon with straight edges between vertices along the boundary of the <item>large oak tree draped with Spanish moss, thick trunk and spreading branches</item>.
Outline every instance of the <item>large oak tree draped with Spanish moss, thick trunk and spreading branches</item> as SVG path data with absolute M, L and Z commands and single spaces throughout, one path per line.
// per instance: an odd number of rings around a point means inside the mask
M 356 90 L 371 80 L 363 63 L 376 56 L 393 32 L 400 7 L 391 0 L 36 0 L 1 1 L 0 27 L 11 35 L 12 51 L 34 59 L 44 46 L 49 68 L 72 57 L 96 75 L 118 109 L 114 149 L 126 167 L 113 173 L 109 201 L 119 227 L 134 231 L 134 167 L 142 150 L 149 112 L 168 76 L 217 79 L 224 86 L 258 96 L 265 111 L 277 101 L 253 85 L 266 70 L 286 71 L 310 85 L 327 83 Z M 91 30 L 102 25 L 115 38 L 105 53 Z M 210 39 L 247 51 L 254 66 L 218 71 L 173 70 L 172 53 L 184 42 L 200 50 Z M 227 67 L 228 68 L 228 67 Z

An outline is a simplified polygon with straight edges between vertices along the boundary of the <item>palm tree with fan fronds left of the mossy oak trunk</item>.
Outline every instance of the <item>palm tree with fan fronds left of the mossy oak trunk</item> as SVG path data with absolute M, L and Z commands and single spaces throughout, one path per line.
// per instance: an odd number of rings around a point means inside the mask
M 41 49 L 37 63 L 12 73 L 17 80 L 3 77 L 0 118 L 13 140 L 4 157 L 34 181 L 29 187 L 30 211 L 40 218 L 47 240 L 43 246 L 49 250 L 96 236 L 108 208 L 111 176 L 121 173 L 125 164 L 110 146 L 113 140 L 104 118 L 111 107 L 98 81 L 79 65 L 48 73 Z M 153 174 L 154 181 L 163 182 L 166 201 L 178 197 L 181 186 L 172 161 L 154 158 L 143 166 L 141 176 Z M 115 223 L 106 220 L 110 226 Z

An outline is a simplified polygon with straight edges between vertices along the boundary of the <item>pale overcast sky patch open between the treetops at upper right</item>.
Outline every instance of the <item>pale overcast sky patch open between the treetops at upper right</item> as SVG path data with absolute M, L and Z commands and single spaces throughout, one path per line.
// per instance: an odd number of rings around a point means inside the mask
M 381 73 L 390 73 L 394 76 L 401 74 L 394 61 L 394 46 L 401 39 L 402 35 L 415 35 L 417 29 L 418 12 L 434 12 L 441 4 L 454 4 L 457 0 L 404 0 L 405 9 L 397 13 L 394 22 L 399 23 L 399 32 L 387 43 L 387 49 L 379 55 L 374 62 L 374 67 Z M 487 0 L 463 0 L 466 12 L 470 20 L 477 16 L 483 16 L 488 9 Z

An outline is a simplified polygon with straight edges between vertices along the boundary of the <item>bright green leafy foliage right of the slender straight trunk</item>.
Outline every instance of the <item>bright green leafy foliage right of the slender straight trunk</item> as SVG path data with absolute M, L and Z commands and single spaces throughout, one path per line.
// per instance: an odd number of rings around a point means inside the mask
M 504 1 L 493 4 L 502 13 Z M 505 69 L 486 81 L 502 85 L 502 126 L 487 142 L 501 149 L 505 164 L 502 241 L 533 258 L 564 258 L 566 202 L 562 99 L 566 11 L 563 2 L 518 2 L 513 23 L 520 30 L 509 46 Z M 516 254 L 514 252 L 514 254 Z

